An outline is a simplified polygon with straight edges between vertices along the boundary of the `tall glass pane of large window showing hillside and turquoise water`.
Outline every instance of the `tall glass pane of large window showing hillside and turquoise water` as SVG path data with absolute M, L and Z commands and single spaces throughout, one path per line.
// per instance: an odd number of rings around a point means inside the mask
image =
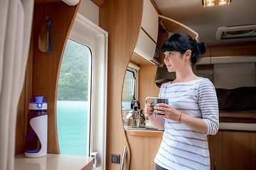
M 58 81 L 60 154 L 87 156 L 90 152 L 91 59 L 89 47 L 68 39 Z

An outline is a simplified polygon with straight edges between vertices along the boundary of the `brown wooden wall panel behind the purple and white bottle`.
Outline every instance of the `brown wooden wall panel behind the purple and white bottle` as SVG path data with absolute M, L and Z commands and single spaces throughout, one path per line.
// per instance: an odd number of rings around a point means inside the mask
M 46 96 L 48 103 L 48 153 L 59 153 L 56 127 L 55 98 L 58 87 L 58 71 L 64 47 L 78 6 L 68 6 L 63 1 L 38 3 L 34 6 L 31 46 L 26 67 L 26 80 L 18 103 L 15 154 L 24 152 L 28 103 L 32 96 Z M 63 14 L 64 13 L 64 14 Z M 50 52 L 38 49 L 38 35 L 43 20 L 50 16 Z

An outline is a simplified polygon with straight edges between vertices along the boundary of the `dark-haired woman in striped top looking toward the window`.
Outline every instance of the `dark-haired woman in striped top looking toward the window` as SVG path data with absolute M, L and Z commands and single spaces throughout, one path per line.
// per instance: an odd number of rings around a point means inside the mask
M 192 70 L 206 45 L 178 33 L 164 42 L 161 51 L 168 72 L 176 72 L 176 79 L 161 85 L 159 97 L 169 98 L 169 105 L 147 103 L 144 108 L 151 123 L 164 129 L 154 159 L 156 169 L 210 169 L 206 135 L 218 132 L 218 100 L 211 81 L 197 77 Z

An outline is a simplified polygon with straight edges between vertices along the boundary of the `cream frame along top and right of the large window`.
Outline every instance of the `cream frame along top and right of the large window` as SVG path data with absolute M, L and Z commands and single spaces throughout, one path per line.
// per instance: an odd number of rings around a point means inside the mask
M 77 13 L 69 38 L 82 43 L 92 52 L 90 96 L 90 150 L 98 152 L 97 167 L 106 167 L 107 130 L 107 37 L 108 33 Z M 97 105 L 100 103 L 100 105 Z M 93 114 L 92 114 L 93 113 Z

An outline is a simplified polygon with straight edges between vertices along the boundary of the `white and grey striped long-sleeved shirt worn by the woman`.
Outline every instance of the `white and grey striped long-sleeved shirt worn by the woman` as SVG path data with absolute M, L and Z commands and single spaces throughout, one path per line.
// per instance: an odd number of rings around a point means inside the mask
M 218 132 L 218 99 L 209 79 L 162 84 L 159 97 L 169 98 L 169 105 L 178 111 L 201 118 L 206 123 L 206 134 L 188 126 L 165 119 L 164 135 L 154 159 L 165 169 L 210 169 L 207 135 Z

